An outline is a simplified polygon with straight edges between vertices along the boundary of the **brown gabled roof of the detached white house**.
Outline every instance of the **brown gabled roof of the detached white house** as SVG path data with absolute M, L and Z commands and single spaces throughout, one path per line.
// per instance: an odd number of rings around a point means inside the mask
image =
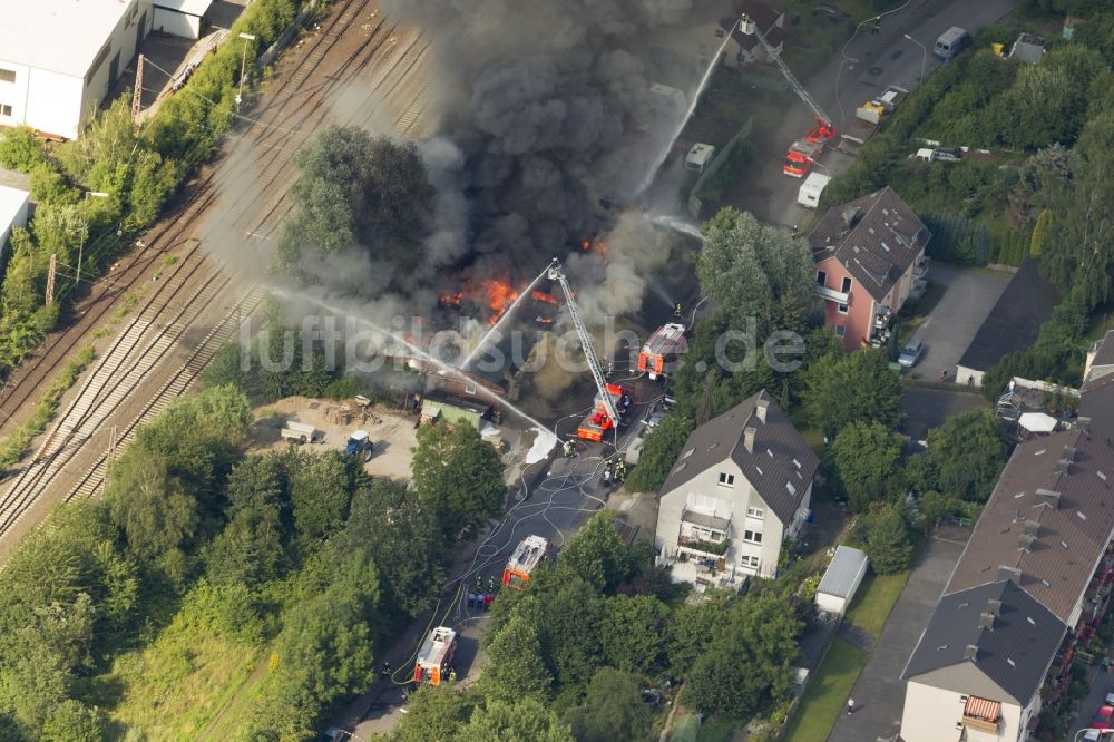
M 754 429 L 751 450 L 744 442 L 747 428 Z M 683 487 L 729 457 L 782 523 L 797 512 L 819 463 L 789 417 L 763 389 L 688 436 L 661 494 Z

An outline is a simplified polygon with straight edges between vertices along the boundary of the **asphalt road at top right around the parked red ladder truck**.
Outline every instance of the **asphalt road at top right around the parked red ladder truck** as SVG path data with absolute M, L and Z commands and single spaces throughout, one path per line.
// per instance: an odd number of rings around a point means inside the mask
M 831 64 L 803 84 L 817 104 L 832 116 L 837 133 L 842 131 L 854 120 L 854 109 L 887 86 L 898 85 L 912 90 L 919 82 L 922 61 L 925 75 L 931 75 L 940 66 L 932 56 L 932 45 L 940 33 L 959 26 L 974 35 L 998 21 L 1015 4 L 1016 0 L 910 0 L 882 19 L 877 35 L 870 32 L 871 21 L 863 22 L 859 35 L 847 46 L 847 59 L 841 60 L 837 55 Z M 920 47 L 905 38 L 906 33 L 925 46 L 924 53 Z M 779 127 L 783 133 L 781 138 L 765 155 L 758 176 L 731 194 L 733 205 L 759 219 L 784 226 L 803 225 L 809 221 L 813 212 L 797 203 L 801 180 L 782 173 L 782 155 L 811 124 L 812 113 L 803 102 L 786 111 Z M 842 153 L 829 152 L 821 159 L 821 172 L 840 173 L 852 162 L 853 158 Z

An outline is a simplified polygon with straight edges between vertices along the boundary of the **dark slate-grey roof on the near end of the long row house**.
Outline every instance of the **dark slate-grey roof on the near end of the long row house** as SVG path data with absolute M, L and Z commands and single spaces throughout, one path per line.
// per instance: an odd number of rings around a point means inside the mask
M 1000 580 L 945 595 L 901 673 L 937 687 L 978 694 L 971 668 L 1025 705 L 1040 687 L 1067 631 L 1014 583 Z M 969 663 L 969 664 L 968 664 Z

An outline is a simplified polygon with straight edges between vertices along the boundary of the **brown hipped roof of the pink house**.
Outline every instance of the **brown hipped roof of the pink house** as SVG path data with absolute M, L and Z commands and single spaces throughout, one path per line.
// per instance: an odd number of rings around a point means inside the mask
M 883 303 L 931 237 L 909 205 L 886 186 L 829 208 L 809 235 L 809 247 L 814 262 L 834 257 Z

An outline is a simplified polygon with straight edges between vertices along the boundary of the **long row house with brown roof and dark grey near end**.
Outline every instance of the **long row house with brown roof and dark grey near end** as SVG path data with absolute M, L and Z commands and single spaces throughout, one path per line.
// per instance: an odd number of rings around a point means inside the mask
M 902 673 L 901 739 L 1027 740 L 1114 579 L 1114 447 L 1086 422 L 1018 445 Z

